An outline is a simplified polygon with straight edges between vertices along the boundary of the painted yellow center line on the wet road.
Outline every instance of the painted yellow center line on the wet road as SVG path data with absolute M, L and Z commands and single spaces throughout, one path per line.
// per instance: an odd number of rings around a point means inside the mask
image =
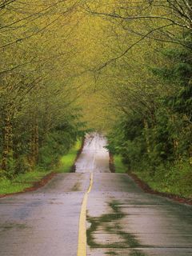
M 82 201 L 82 210 L 79 218 L 79 226 L 78 226 L 78 256 L 86 256 L 86 205 L 87 198 L 90 190 L 92 189 L 94 182 L 94 174 L 90 174 L 90 186 L 84 195 Z

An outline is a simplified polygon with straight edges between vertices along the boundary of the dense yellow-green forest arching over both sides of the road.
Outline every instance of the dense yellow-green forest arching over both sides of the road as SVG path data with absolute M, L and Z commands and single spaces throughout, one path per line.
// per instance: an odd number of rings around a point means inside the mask
M 190 0 L 0 1 L 1 178 L 87 129 L 155 189 L 192 192 Z

